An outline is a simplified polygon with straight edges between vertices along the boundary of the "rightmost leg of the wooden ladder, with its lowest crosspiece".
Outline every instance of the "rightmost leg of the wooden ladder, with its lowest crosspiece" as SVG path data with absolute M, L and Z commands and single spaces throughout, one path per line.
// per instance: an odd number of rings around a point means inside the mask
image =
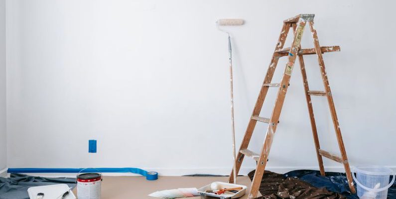
M 328 157 L 328 158 L 335 160 L 337 162 L 340 162 L 344 165 L 345 173 L 347 175 L 347 179 L 348 179 L 348 183 L 349 183 L 349 188 L 351 189 L 352 193 L 356 193 L 355 187 L 354 187 L 354 184 L 352 181 L 351 170 L 349 168 L 347 153 L 345 151 L 344 142 L 342 140 L 342 135 L 341 135 L 340 126 L 338 123 L 336 109 L 334 107 L 333 97 L 332 97 L 331 91 L 330 91 L 329 80 L 327 78 L 327 74 L 326 74 L 326 70 L 325 70 L 325 66 L 324 66 L 324 62 L 323 62 L 323 56 L 322 56 L 322 52 L 321 52 L 319 41 L 318 41 L 318 36 L 317 36 L 315 28 L 313 27 L 313 21 L 309 21 L 309 27 L 312 32 L 313 44 L 315 46 L 316 55 L 318 56 L 319 67 L 320 67 L 320 71 L 322 73 L 323 85 L 324 85 L 324 88 L 326 91 L 327 101 L 329 103 L 331 117 L 333 119 L 334 129 L 336 131 L 338 146 L 339 146 L 340 152 L 341 152 L 341 159 L 334 158 L 331 156 L 331 154 L 329 154 L 328 152 L 325 152 L 325 151 L 322 152 L 322 156 Z

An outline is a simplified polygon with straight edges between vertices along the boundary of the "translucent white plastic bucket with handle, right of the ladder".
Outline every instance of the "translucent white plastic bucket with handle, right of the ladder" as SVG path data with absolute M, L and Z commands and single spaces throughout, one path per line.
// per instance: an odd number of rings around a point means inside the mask
M 387 199 L 388 189 L 395 182 L 395 174 L 391 169 L 381 166 L 358 166 L 352 172 L 356 172 L 356 177 L 353 173 L 352 177 L 357 184 L 360 199 Z M 389 183 L 391 175 L 393 179 Z

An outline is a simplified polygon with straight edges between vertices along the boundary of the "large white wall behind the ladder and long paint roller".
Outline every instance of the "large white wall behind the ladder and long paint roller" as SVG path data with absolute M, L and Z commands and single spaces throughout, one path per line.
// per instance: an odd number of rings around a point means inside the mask
M 227 36 L 234 45 L 240 144 L 282 20 L 315 13 L 345 147 L 352 165 L 396 167 L 392 60 L 396 3 L 387 0 L 8 0 L 9 167 L 139 167 L 162 175 L 229 174 L 232 166 Z M 302 46 L 312 47 L 309 29 Z M 289 37 L 290 41 L 290 37 Z M 286 44 L 286 45 L 289 45 Z M 322 90 L 306 56 L 311 90 Z M 285 58 L 273 79 L 278 83 Z M 269 116 L 275 89 L 262 116 Z M 313 97 L 322 148 L 338 153 L 323 97 Z M 259 151 L 264 124 L 250 149 Z M 88 153 L 88 140 L 98 153 Z M 268 168 L 317 168 L 295 67 Z M 325 160 L 327 168 L 341 168 Z M 245 173 L 254 168 L 246 160 Z

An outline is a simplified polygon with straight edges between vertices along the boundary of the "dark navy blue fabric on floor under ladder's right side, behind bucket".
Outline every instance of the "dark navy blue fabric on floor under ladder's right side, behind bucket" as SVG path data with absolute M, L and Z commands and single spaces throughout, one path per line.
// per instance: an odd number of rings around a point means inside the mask
M 345 173 L 326 172 L 321 176 L 315 170 L 295 170 L 284 174 L 285 177 L 298 178 L 315 187 L 325 187 L 327 190 L 342 194 L 348 199 L 359 199 L 356 194 L 351 195 Z M 396 199 L 396 183 L 388 190 L 388 199 Z

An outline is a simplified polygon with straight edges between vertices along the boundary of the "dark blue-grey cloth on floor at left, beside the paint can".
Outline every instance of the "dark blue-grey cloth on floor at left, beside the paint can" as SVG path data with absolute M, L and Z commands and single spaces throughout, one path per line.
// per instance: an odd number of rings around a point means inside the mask
M 0 199 L 29 199 L 28 188 L 55 184 L 67 184 L 71 188 L 77 185 L 75 178 L 43 178 L 11 173 L 9 178 L 0 177 Z

